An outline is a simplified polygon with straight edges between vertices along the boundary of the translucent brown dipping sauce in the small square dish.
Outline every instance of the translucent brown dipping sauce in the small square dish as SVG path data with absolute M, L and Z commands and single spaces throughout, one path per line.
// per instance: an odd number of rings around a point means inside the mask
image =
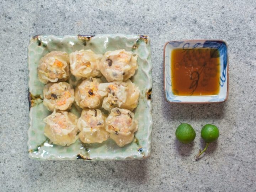
M 178 96 L 219 94 L 218 49 L 174 49 L 171 52 L 172 93 Z

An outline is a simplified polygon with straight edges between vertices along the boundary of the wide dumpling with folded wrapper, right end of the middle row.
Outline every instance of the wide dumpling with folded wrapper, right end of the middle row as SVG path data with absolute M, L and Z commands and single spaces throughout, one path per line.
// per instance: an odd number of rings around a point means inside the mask
M 114 107 L 133 110 L 139 101 L 139 88 L 132 81 L 127 80 L 102 83 L 98 86 L 98 93 L 105 97 L 102 107 L 110 111 Z

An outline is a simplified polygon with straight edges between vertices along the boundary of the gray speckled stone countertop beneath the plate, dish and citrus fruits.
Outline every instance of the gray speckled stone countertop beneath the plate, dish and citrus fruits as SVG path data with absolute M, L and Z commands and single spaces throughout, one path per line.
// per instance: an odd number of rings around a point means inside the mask
M 255 191 L 256 4 L 245 1 L 0 0 L 0 191 Z M 149 159 L 28 159 L 27 46 L 36 34 L 148 34 L 153 63 L 153 132 Z M 163 92 L 163 47 L 179 39 L 229 45 L 228 101 L 171 105 Z M 176 142 L 190 123 L 193 144 Z M 203 147 L 201 126 L 216 124 L 218 142 Z

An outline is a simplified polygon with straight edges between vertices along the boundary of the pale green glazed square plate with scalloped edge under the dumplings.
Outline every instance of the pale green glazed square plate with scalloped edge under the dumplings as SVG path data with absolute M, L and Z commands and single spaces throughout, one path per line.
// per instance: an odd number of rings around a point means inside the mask
M 138 121 L 138 131 L 134 141 L 124 147 L 108 139 L 102 144 L 82 144 L 79 140 L 70 146 L 59 146 L 49 143 L 44 136 L 43 119 L 51 112 L 42 103 L 44 84 L 38 80 L 37 65 L 39 59 L 53 50 L 67 53 L 75 50 L 91 49 L 97 54 L 109 50 L 126 49 L 138 54 L 138 70 L 132 81 L 140 89 L 138 107 L 134 110 Z M 150 38 L 143 35 L 101 34 L 96 36 L 38 35 L 30 40 L 28 46 L 30 127 L 28 129 L 28 152 L 32 159 L 85 159 L 85 160 L 127 160 L 144 159 L 150 155 L 152 131 L 151 107 L 151 55 Z M 80 115 L 75 107 L 71 112 Z

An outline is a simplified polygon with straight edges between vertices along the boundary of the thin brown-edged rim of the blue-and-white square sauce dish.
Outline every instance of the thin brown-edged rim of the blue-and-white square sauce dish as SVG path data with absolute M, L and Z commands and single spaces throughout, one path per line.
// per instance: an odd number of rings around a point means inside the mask
M 165 89 L 165 49 L 166 49 L 166 46 L 167 44 L 169 44 L 170 42 L 180 42 L 180 41 L 221 41 L 223 43 L 225 43 L 226 45 L 226 48 L 227 48 L 227 66 L 226 66 L 226 72 L 227 72 L 227 75 L 226 75 L 226 78 L 227 78 L 227 91 L 226 91 L 226 97 L 223 101 L 202 101 L 202 102 L 193 102 L 193 101 L 181 101 L 181 102 L 175 102 L 175 101 L 170 101 L 168 100 L 168 98 L 166 97 L 166 89 Z M 165 96 L 165 100 L 169 103 L 177 103 L 177 104 L 205 104 L 205 103 L 223 103 L 223 102 L 226 102 L 228 100 L 228 96 L 229 96 L 229 53 L 228 53 L 228 43 L 222 39 L 182 39 L 182 40 L 175 40 L 175 41 L 167 41 L 165 44 L 164 44 L 164 62 L 163 62 L 163 70 L 164 70 L 164 96 Z

